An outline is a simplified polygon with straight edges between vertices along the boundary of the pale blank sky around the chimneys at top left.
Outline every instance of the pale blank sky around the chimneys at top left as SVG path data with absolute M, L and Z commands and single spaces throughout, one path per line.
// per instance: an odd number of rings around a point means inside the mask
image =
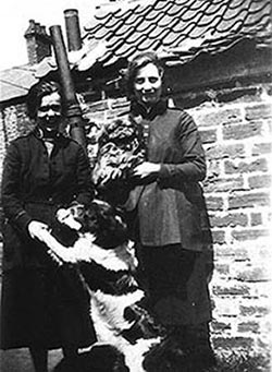
M 24 33 L 29 20 L 49 26 L 60 24 L 64 33 L 65 9 L 78 10 L 81 25 L 101 0 L 5 0 L 0 5 L 0 70 L 27 63 Z M 88 10 L 88 12 L 86 11 Z

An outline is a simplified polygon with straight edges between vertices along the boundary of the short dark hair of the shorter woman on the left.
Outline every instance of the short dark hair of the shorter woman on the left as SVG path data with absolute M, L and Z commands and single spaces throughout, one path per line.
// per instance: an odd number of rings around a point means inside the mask
M 64 105 L 62 88 L 58 82 L 50 80 L 41 80 L 29 88 L 26 98 L 26 106 L 28 115 L 32 119 L 36 118 L 37 110 L 40 106 L 42 97 L 48 96 L 55 92 L 59 93 L 61 96 L 61 104 L 63 108 Z

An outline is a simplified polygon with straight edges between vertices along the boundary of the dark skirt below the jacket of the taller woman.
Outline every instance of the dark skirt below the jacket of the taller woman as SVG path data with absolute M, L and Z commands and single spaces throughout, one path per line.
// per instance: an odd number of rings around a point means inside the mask
M 168 326 L 211 320 L 207 255 L 180 244 L 137 248 L 140 276 L 159 321 Z

